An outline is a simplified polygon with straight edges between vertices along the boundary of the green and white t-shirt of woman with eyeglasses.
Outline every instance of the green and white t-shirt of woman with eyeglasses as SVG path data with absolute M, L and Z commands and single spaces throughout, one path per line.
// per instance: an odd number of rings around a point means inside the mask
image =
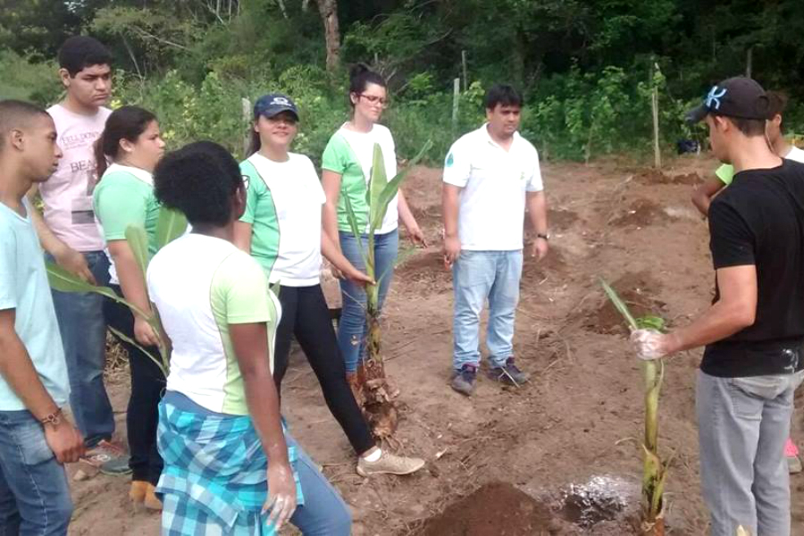
M 346 197 L 355 213 L 357 227 L 364 232 L 368 231 L 369 207 L 365 197 L 366 186 L 372 176 L 374 144 L 379 144 L 382 150 L 386 178 L 393 179 L 397 174 L 394 138 L 390 130 L 382 125 L 375 124 L 370 132 L 355 132 L 341 127 L 332 135 L 322 155 L 322 169 L 340 175 L 338 229 L 349 234 L 352 233 L 352 226 L 349 225 Z M 397 229 L 398 219 L 398 201 L 394 197 L 377 233 L 384 234 Z

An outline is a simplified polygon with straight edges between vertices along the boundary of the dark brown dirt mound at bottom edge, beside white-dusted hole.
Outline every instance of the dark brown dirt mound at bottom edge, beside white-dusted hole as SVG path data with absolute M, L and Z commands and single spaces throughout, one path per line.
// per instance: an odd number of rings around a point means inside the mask
M 428 519 L 420 536 L 548 536 L 563 523 L 507 482 L 490 482 Z

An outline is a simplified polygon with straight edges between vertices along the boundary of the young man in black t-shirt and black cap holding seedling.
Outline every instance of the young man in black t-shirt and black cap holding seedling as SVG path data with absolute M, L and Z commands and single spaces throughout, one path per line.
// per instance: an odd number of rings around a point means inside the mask
M 724 80 L 691 113 L 705 119 L 732 186 L 709 207 L 713 305 L 667 334 L 634 331 L 642 359 L 706 345 L 696 405 L 703 498 L 713 536 L 790 535 L 784 441 L 804 345 L 804 164 L 768 147 L 769 103 L 754 80 Z

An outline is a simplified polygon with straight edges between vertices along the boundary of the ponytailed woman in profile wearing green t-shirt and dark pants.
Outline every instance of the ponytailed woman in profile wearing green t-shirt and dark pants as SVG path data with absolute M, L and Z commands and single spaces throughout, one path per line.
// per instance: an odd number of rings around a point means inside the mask
M 103 228 L 111 267 L 111 287 L 144 312 L 151 313 L 145 278 L 126 241 L 130 225 L 145 228 L 150 254 L 155 253 L 159 204 L 154 197 L 152 172 L 164 152 L 159 123 L 153 113 L 137 106 L 123 106 L 106 121 L 96 142 L 97 183 L 93 194 L 95 214 Z M 111 163 L 107 163 L 107 160 Z M 104 316 L 129 354 L 131 395 L 126 413 L 132 472 L 130 498 L 151 509 L 161 509 L 155 485 L 162 473 L 162 457 L 156 450 L 157 406 L 165 385 L 164 374 L 140 347 L 159 355 L 159 339 L 145 318 L 105 299 Z M 138 345 L 131 341 L 136 340 Z

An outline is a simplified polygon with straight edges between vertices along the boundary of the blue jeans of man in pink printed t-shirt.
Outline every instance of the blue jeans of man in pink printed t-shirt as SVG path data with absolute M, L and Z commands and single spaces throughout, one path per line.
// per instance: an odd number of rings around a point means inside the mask
M 108 285 L 109 259 L 105 253 L 92 251 L 84 256 L 97 284 Z M 47 258 L 53 260 L 49 255 Z M 111 439 L 114 432 L 114 414 L 104 387 L 104 297 L 54 290 L 53 305 L 70 376 L 70 409 L 87 446 L 94 447 L 100 440 Z

